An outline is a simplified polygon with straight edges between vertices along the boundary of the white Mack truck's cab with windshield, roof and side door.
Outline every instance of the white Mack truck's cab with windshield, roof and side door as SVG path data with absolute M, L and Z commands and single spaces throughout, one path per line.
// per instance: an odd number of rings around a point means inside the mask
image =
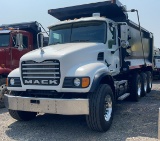
M 120 71 L 119 44 L 116 38 L 118 36 L 117 26 L 118 24 L 114 21 L 94 14 L 93 17 L 62 21 L 49 27 L 49 45 L 75 44 L 75 50 L 81 50 L 82 48 L 78 45 L 93 44 L 93 50 L 99 51 L 99 54 L 94 54 L 94 60 L 110 60 L 106 63 L 110 66 L 110 72 L 116 75 Z M 115 51 L 115 53 L 107 55 L 111 51 Z M 116 61 L 108 59 L 115 57 L 117 58 Z M 117 64 L 117 69 L 114 67 L 115 64 Z

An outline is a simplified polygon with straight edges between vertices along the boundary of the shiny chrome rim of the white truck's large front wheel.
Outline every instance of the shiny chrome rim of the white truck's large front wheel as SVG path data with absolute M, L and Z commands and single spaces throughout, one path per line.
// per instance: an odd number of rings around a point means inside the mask
M 112 98 L 110 95 L 105 97 L 105 105 L 104 105 L 104 118 L 105 121 L 109 121 L 112 115 Z

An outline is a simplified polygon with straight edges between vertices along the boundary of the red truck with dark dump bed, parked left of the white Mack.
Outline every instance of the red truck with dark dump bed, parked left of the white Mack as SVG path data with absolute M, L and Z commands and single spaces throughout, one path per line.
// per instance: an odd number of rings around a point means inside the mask
M 21 56 L 38 48 L 37 34 L 41 32 L 40 26 L 36 21 L 0 26 L 0 108 L 4 107 L 3 95 L 7 90 L 8 74 L 19 67 Z M 44 46 L 48 43 L 48 38 L 45 39 Z

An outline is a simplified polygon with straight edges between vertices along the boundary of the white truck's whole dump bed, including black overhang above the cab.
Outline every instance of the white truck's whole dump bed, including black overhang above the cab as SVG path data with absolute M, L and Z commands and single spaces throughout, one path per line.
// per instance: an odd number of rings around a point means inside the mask
M 141 27 L 144 45 L 142 48 L 139 25 L 129 20 L 128 14 L 125 11 L 126 7 L 118 0 L 107 0 L 104 2 L 50 9 L 48 10 L 48 13 L 61 21 L 82 17 L 92 17 L 93 13 L 100 13 L 100 16 L 104 16 L 115 22 L 126 22 L 129 26 L 130 48 L 123 49 L 122 51 L 122 59 L 124 60 L 122 65 L 129 68 L 134 68 L 136 65 L 144 65 L 145 63 L 147 65 L 152 65 L 153 34 Z

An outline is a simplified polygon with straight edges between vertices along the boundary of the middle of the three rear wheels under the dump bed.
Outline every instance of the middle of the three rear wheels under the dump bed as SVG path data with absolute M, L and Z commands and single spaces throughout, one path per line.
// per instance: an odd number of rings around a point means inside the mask
M 141 73 L 140 76 L 142 82 L 141 96 L 145 96 L 147 93 L 147 75 L 145 73 Z

